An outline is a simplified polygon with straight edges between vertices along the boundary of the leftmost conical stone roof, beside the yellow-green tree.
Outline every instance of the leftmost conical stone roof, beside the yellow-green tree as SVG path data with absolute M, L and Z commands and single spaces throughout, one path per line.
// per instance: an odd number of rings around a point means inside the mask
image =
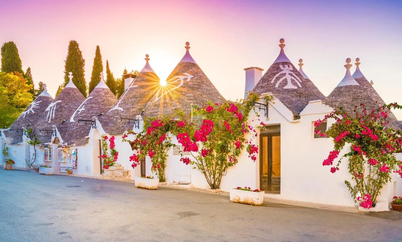
M 32 101 L 32 103 L 21 113 L 20 116 L 12 123 L 8 131 L 4 131 L 7 137 L 7 142 L 10 144 L 17 144 L 23 141 L 22 131 L 20 129 L 29 130 L 35 125 L 39 117 L 43 114 L 45 109 L 53 101 L 53 98 L 46 91 L 46 85 L 44 84 L 44 90 Z M 18 129 L 18 130 L 16 130 Z

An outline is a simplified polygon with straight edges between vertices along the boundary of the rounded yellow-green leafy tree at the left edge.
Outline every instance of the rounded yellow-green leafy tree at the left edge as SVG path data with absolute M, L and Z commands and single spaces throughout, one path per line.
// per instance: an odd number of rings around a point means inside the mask
M 19 72 L 0 73 L 0 127 L 9 127 L 32 102 L 31 88 Z

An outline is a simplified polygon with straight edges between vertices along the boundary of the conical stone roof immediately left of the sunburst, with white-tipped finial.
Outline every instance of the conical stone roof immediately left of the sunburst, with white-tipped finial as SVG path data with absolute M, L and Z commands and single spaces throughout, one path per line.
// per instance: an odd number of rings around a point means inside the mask
M 149 64 L 149 55 L 146 55 L 146 64 L 131 82 L 127 90 L 120 96 L 117 103 L 101 118 L 102 126 L 110 134 L 123 133 L 133 128 L 133 123 L 127 119 L 135 119 L 142 114 L 142 110 L 155 95 L 160 86 L 159 77 Z M 123 118 L 123 119 L 122 119 Z

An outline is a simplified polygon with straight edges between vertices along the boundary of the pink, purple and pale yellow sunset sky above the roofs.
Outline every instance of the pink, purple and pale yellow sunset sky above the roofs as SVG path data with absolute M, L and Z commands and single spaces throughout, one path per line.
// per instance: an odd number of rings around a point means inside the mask
M 68 41 L 80 44 L 90 80 L 96 45 L 115 77 L 141 70 L 145 54 L 166 79 L 190 53 L 230 100 L 244 92 L 244 68 L 267 70 L 285 39 L 285 53 L 328 95 L 345 75 L 345 59 L 360 68 L 387 102 L 402 103 L 401 1 L 132 1 L 0 0 L 0 44 L 14 41 L 23 69 L 54 96 L 64 77 Z M 354 72 L 355 66 L 352 68 Z M 74 75 L 74 74 L 73 74 Z M 402 120 L 402 111 L 394 112 Z

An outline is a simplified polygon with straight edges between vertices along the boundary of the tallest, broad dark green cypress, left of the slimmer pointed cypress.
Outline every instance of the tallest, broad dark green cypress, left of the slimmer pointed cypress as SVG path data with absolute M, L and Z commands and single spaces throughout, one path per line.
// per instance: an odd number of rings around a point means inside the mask
M 82 52 L 77 41 L 70 40 L 67 57 L 64 62 L 64 83 L 60 86 L 60 88 L 63 89 L 64 86 L 66 86 L 70 81 L 70 78 L 68 78 L 68 72 L 72 72 L 72 75 L 74 76 L 72 79 L 74 85 L 78 88 L 78 90 L 80 90 L 82 95 L 86 97 L 86 81 L 84 77 L 85 60 L 82 58 Z

